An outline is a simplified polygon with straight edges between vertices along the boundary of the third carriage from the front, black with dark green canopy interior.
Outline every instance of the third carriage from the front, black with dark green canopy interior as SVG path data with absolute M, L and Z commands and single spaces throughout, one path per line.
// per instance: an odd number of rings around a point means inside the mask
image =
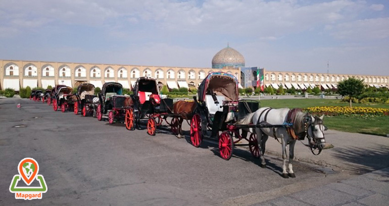
M 110 121 L 110 124 L 113 124 L 114 118 L 115 117 L 119 118 L 118 117 L 119 114 L 115 113 L 113 109 L 117 108 L 116 112 L 121 111 L 121 109 L 119 109 L 121 108 L 121 106 L 123 106 L 123 102 L 121 101 L 124 100 L 125 98 L 125 96 L 122 95 L 122 92 L 123 92 L 123 86 L 118 82 L 106 82 L 103 85 L 103 88 L 99 93 L 99 105 L 97 106 L 97 110 L 96 110 L 96 116 L 99 121 L 102 121 L 103 119 L 108 119 Z M 124 118 L 124 111 L 123 111 L 123 118 Z

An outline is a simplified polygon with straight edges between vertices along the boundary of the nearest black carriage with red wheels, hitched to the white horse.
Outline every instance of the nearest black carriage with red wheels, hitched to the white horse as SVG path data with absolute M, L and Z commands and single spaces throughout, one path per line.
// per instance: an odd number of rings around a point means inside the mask
M 197 109 L 190 122 L 190 141 L 193 146 L 199 147 L 203 137 L 217 138 L 221 158 L 229 160 L 234 144 L 246 139 L 248 144 L 239 145 L 248 145 L 252 155 L 259 158 L 256 135 L 252 133 L 247 138 L 239 133 L 242 127 L 235 126 L 239 119 L 259 109 L 259 101 L 238 99 L 236 77 L 222 72 L 210 73 L 199 86 L 198 96 L 199 99 L 193 97 Z

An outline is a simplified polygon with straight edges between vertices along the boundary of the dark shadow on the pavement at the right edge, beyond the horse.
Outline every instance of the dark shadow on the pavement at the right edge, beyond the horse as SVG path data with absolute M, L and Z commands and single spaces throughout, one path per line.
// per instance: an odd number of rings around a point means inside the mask
M 389 146 L 374 144 L 371 147 L 333 148 L 334 158 L 350 163 L 353 172 L 371 172 L 389 167 Z

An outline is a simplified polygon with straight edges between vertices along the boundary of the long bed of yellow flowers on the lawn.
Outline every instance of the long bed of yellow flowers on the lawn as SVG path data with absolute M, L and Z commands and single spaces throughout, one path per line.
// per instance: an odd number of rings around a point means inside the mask
M 389 116 L 388 109 L 380 108 L 367 108 L 367 107 L 312 107 L 307 108 L 305 111 L 313 113 L 315 115 L 374 115 L 374 116 Z

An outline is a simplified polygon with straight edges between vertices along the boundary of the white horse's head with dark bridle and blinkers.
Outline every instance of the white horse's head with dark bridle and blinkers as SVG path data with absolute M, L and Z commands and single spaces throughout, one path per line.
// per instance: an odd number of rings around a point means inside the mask
M 319 150 L 333 147 L 332 144 L 325 143 L 324 131 L 327 127 L 323 124 L 324 115 L 321 117 L 308 115 L 306 130 L 309 138 L 309 145 L 311 148 Z

